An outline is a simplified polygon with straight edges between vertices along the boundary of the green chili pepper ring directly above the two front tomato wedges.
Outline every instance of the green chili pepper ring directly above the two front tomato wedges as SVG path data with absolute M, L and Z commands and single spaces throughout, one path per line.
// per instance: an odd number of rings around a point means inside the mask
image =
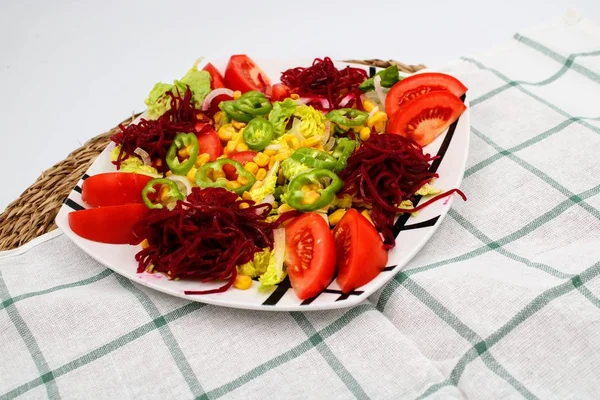
M 329 178 L 331 182 L 328 185 L 324 185 L 322 180 Z M 304 185 L 317 184 L 320 187 L 325 186 L 318 190 L 319 198 L 307 204 L 305 202 L 305 196 L 309 192 L 302 190 Z M 314 169 L 309 172 L 305 172 L 296 176 L 289 185 L 289 196 L 288 205 L 299 211 L 314 211 L 329 205 L 337 192 L 342 190 L 344 182 L 333 172 L 328 169 Z

